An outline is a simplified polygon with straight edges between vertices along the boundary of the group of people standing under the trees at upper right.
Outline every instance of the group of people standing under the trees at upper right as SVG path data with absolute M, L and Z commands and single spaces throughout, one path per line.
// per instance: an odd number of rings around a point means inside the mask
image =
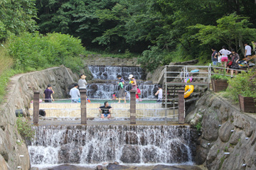
M 231 77 L 233 77 L 234 70 L 235 74 L 238 74 L 239 60 L 240 56 L 235 51 L 235 49 L 227 50 L 227 47 L 223 46 L 223 48 L 218 52 L 215 47 L 212 47 L 211 50 L 213 54 L 211 55 L 211 59 L 214 66 L 217 66 L 218 63 L 221 64 L 222 67 L 227 69 L 227 73 L 230 70 Z M 245 58 L 250 57 L 252 55 L 252 48 L 245 42 Z M 229 57 L 228 57 L 229 56 Z

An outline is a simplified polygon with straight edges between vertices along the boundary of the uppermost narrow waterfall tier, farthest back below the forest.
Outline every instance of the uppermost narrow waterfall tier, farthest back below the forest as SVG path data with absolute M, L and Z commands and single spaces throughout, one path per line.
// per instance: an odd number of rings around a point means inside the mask
M 128 79 L 129 74 L 133 74 L 135 79 L 145 79 L 145 72 L 140 67 L 117 67 L 117 66 L 89 66 L 90 72 L 95 79 L 117 79 L 121 75 Z

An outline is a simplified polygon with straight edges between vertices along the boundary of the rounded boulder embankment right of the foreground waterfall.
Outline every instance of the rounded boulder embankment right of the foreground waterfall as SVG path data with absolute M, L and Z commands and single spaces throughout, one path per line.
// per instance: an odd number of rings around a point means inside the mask
M 256 169 L 256 120 L 228 99 L 207 91 L 186 122 L 201 128 L 194 134 L 196 164 L 208 169 Z

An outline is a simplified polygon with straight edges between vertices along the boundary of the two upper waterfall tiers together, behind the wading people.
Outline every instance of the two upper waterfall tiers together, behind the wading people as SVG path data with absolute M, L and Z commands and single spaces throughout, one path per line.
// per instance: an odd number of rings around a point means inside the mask
M 158 90 L 156 84 L 151 81 L 139 81 L 145 79 L 146 74 L 140 67 L 113 67 L 113 66 L 89 66 L 90 72 L 94 79 L 110 80 L 105 83 L 92 83 L 87 85 L 87 95 L 89 98 L 112 98 L 112 94 L 118 91 L 117 75 L 120 74 L 124 79 L 133 74 L 137 79 L 137 84 L 142 92 L 140 98 L 156 98 L 154 94 Z M 127 98 L 129 98 L 129 81 L 126 81 L 125 90 L 127 91 Z

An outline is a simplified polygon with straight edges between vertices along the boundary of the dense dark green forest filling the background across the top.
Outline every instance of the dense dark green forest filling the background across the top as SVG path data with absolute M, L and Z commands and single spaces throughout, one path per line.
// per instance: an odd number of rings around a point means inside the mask
M 210 61 L 210 48 L 244 52 L 256 40 L 255 0 L 3 0 L 0 39 L 23 31 L 80 38 L 87 50 L 137 53 L 159 64 Z M 128 55 L 129 56 L 129 55 Z

